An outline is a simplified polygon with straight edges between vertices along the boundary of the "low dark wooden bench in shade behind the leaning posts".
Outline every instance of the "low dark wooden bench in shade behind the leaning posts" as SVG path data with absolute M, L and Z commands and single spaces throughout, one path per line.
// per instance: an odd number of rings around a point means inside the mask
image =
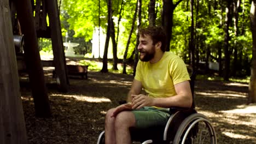
M 67 65 L 68 75 L 80 75 L 82 79 L 88 79 L 88 66 L 89 65 Z M 53 70 L 53 77 L 56 77 L 56 71 Z

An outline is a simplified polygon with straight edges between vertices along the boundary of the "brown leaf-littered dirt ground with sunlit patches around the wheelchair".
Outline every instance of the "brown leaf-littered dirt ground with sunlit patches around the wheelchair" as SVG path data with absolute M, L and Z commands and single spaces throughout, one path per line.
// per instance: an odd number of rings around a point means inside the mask
M 96 143 L 104 116 L 130 89 L 131 75 L 88 73 L 88 80 L 69 79 L 60 93 L 46 73 L 52 117 L 36 118 L 26 76 L 20 78 L 28 143 Z M 247 106 L 247 83 L 196 80 L 196 110 L 212 122 L 218 143 L 256 143 L 256 105 Z

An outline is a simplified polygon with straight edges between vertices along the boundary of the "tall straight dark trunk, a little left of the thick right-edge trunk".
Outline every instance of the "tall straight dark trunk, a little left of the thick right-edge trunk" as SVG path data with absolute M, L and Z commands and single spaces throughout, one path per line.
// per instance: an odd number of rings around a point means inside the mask
M 229 26 L 232 20 L 231 17 L 231 5 L 232 2 L 228 1 L 228 5 L 226 7 L 226 19 L 225 19 L 225 40 L 224 40 L 224 55 L 225 55 L 225 62 L 224 62 L 224 80 L 229 80 L 229 67 L 230 67 L 230 52 L 229 52 Z

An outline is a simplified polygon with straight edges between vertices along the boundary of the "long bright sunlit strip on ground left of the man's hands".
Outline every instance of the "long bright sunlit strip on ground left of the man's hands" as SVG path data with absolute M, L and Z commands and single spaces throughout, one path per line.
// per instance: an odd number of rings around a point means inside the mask
M 80 101 L 87 101 L 89 103 L 110 103 L 111 100 L 108 98 L 96 98 L 96 97 L 88 97 L 85 95 L 68 95 L 68 94 L 51 94 L 50 96 L 61 96 L 66 98 L 75 98 Z

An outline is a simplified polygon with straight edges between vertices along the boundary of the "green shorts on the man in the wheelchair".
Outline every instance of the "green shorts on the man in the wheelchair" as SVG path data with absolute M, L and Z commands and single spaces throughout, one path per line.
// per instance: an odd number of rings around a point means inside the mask
M 139 110 L 133 110 L 135 115 L 136 128 L 148 128 L 151 126 L 163 126 L 171 116 L 168 109 L 156 109 L 155 107 L 144 106 Z

